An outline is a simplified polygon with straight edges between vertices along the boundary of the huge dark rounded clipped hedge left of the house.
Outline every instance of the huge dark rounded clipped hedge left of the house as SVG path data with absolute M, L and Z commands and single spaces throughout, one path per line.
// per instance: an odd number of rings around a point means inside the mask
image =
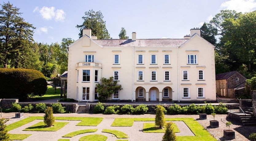
M 47 90 L 45 76 L 37 70 L 0 69 L 0 98 L 42 96 Z

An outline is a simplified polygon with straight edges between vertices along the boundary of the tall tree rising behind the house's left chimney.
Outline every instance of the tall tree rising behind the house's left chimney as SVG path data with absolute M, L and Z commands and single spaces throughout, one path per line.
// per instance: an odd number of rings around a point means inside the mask
M 106 21 L 103 20 L 103 15 L 100 11 L 89 10 L 84 14 L 82 25 L 76 25 L 80 29 L 78 34 L 80 38 L 83 36 L 83 29 L 91 29 L 92 36 L 97 36 L 98 39 L 110 39 L 110 34 L 106 28 Z

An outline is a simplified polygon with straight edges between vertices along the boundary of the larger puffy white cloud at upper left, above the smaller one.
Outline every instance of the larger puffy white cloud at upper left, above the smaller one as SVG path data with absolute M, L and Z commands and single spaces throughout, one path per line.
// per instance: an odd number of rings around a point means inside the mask
M 37 12 L 37 11 L 46 20 L 55 19 L 55 21 L 64 21 L 66 17 L 64 10 L 60 10 L 60 9 L 55 10 L 55 7 L 53 6 L 52 7 L 44 6 L 41 9 L 39 9 L 39 7 L 37 6 L 33 10 L 33 12 Z

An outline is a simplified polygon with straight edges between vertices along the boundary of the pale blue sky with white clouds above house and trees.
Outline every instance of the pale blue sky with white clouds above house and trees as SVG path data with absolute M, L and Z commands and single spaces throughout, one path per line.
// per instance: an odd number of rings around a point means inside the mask
M 8 0 L 3 0 L 8 2 Z M 84 12 L 103 13 L 103 20 L 113 39 L 119 39 L 121 27 L 131 38 L 183 38 L 191 28 L 201 27 L 220 10 L 251 12 L 256 0 L 9 0 L 20 8 L 21 17 L 33 24 L 34 40 L 61 42 L 62 38 L 79 38 L 76 25 L 83 23 Z M 2 4 L 2 2 L 0 2 Z

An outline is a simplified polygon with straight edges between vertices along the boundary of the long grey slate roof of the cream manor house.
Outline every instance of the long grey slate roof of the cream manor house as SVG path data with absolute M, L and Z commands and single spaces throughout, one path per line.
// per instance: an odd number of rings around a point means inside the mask
M 103 47 L 179 47 L 188 39 L 106 39 L 94 40 Z

